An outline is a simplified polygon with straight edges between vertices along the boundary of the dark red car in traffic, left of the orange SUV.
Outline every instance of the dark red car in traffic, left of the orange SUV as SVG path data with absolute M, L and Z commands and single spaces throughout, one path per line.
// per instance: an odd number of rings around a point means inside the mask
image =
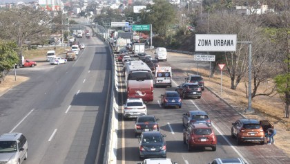
M 187 145 L 188 151 L 193 147 L 211 147 L 215 151 L 218 141 L 209 124 L 195 123 L 184 129 L 183 143 Z

